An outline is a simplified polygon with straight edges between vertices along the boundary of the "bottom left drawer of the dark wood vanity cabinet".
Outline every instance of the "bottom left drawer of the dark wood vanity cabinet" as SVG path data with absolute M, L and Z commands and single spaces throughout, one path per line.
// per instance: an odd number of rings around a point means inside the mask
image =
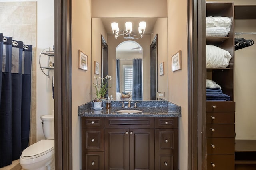
M 82 156 L 83 170 L 104 170 L 104 152 L 87 152 Z

